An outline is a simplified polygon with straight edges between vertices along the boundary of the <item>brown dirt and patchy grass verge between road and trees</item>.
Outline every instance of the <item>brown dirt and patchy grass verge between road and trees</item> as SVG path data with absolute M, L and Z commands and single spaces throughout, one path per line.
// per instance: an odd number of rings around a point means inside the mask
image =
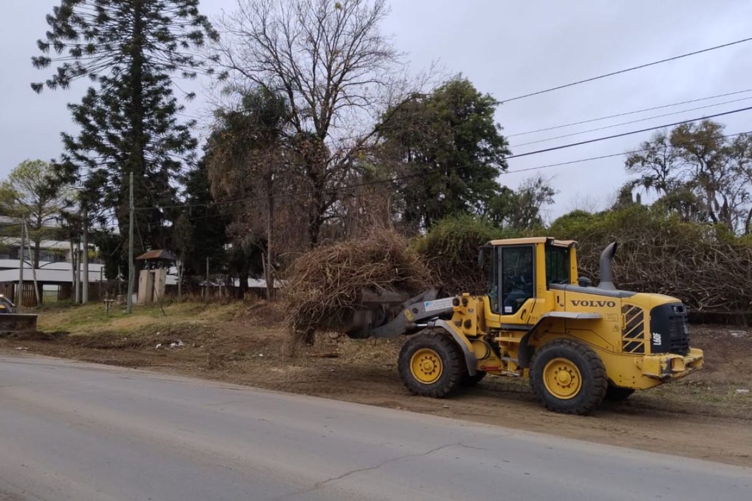
M 0 350 L 168 371 L 279 391 L 405 409 L 591 442 L 752 466 L 752 330 L 693 326 L 706 368 L 605 403 L 586 417 L 547 412 L 525 380 L 489 376 L 450 398 L 414 397 L 396 370 L 399 340 L 319 334 L 295 358 L 267 303 L 174 303 L 109 316 L 101 305 L 40 312 L 39 332 Z M 157 346 L 159 345 L 159 348 Z M 173 346 L 171 346 L 173 345 Z

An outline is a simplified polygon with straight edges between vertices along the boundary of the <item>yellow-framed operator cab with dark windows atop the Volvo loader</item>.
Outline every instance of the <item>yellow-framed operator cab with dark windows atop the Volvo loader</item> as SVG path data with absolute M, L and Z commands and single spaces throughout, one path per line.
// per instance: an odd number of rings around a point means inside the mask
M 508 324 L 527 324 L 544 305 L 551 284 L 575 284 L 576 243 L 548 237 L 492 240 L 481 247 L 489 313 Z M 538 308 L 536 308 L 536 303 Z M 550 308 L 550 306 L 548 306 Z

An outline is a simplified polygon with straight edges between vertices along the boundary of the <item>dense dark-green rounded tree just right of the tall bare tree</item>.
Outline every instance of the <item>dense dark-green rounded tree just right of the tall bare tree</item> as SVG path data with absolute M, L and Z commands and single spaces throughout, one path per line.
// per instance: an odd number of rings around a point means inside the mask
M 507 197 L 496 177 L 508 143 L 494 122 L 499 101 L 457 77 L 384 114 L 384 155 L 401 180 L 396 212 L 412 231 L 457 213 L 488 213 Z

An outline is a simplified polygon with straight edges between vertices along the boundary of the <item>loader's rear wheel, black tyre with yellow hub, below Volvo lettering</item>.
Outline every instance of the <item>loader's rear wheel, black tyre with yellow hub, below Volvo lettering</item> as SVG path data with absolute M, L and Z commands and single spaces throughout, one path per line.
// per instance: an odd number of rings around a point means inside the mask
M 564 386 L 560 390 L 556 388 L 556 377 L 567 371 L 559 367 L 572 369 L 570 376 L 562 376 Z M 554 340 L 541 346 L 532 357 L 529 373 L 538 400 L 546 409 L 562 414 L 590 414 L 602 403 L 608 388 L 601 359 L 590 346 L 575 340 Z M 558 396 L 553 391 L 558 391 Z

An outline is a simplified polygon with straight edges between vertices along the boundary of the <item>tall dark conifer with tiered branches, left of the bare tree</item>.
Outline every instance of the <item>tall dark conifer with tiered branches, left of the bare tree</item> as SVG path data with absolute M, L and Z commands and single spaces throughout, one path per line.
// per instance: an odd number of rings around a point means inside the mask
M 54 67 L 32 89 L 66 89 L 77 79 L 92 86 L 80 104 L 69 104 L 75 135 L 62 134 L 65 153 L 56 164 L 61 180 L 80 184 L 80 203 L 89 212 L 128 222 L 128 176 L 135 178 L 135 205 L 174 204 L 174 181 L 193 162 L 193 122 L 180 122 L 183 106 L 172 77 L 195 78 L 204 67 L 194 49 L 217 39 L 199 0 L 61 0 L 36 68 Z M 207 71 L 211 72 L 211 71 Z M 193 95 L 186 95 L 192 98 Z M 168 240 L 164 210 L 138 211 L 144 247 Z

